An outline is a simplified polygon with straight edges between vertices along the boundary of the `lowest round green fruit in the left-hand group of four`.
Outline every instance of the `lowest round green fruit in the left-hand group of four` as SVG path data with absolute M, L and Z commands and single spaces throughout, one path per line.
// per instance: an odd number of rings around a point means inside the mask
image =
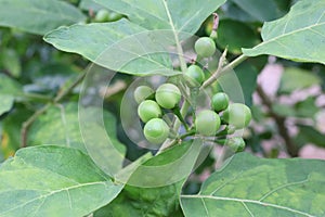
M 159 144 L 168 138 L 169 127 L 161 118 L 153 118 L 145 124 L 143 132 L 147 141 Z

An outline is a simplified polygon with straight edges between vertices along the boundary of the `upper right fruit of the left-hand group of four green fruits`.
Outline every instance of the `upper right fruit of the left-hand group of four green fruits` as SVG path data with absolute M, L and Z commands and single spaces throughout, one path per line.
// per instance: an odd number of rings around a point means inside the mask
M 180 89 L 172 84 L 164 84 L 156 90 L 156 101 L 165 108 L 173 108 L 181 101 Z

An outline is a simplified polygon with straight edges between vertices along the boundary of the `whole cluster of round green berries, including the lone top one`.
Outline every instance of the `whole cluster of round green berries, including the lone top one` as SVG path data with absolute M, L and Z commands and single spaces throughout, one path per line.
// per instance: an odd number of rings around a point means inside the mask
M 216 52 L 216 44 L 211 38 L 203 37 L 195 42 L 197 56 L 209 58 Z M 190 90 L 190 95 L 197 95 L 205 82 L 205 74 L 200 66 L 192 64 L 184 72 L 179 87 Z M 151 143 L 162 143 L 167 138 L 177 135 L 174 140 L 187 137 L 200 137 L 213 142 L 222 143 L 234 151 L 243 151 L 245 142 L 240 137 L 226 138 L 238 129 L 248 126 L 251 119 L 251 112 L 248 106 L 242 103 L 231 103 L 229 95 L 224 92 L 217 92 L 210 98 L 210 107 L 196 111 L 195 103 L 181 114 L 181 102 L 192 101 L 192 98 L 183 97 L 179 87 L 174 84 L 164 84 L 156 90 L 148 86 L 140 86 L 134 90 L 134 99 L 138 106 L 138 115 L 144 123 L 143 132 Z M 183 89 L 182 89 L 183 90 Z M 194 94 L 195 93 L 195 94 Z M 172 131 L 170 126 L 161 118 L 164 113 L 172 112 L 183 124 L 186 132 L 179 135 Z

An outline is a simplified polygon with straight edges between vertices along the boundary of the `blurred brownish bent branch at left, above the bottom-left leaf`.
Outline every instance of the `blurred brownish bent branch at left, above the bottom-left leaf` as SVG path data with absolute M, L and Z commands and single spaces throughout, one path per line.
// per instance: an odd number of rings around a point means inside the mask
M 22 130 L 21 130 L 21 148 L 25 148 L 27 145 L 27 132 L 29 127 L 31 126 L 31 124 L 41 115 L 43 114 L 50 106 L 52 103 L 58 103 L 64 97 L 66 97 L 77 85 L 79 85 L 84 76 L 86 73 L 82 73 L 81 75 L 78 76 L 78 78 L 70 85 L 68 86 L 66 89 L 64 89 L 63 91 L 57 92 L 56 97 L 54 98 L 54 100 L 52 102 L 47 103 L 46 105 L 43 105 L 41 108 L 37 110 L 26 122 L 23 123 L 22 126 Z

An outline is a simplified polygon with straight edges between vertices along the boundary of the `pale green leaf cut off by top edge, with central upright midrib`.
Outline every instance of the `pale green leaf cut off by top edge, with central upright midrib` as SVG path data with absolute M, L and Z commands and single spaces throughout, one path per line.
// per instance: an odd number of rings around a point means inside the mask
M 107 9 L 126 14 L 146 29 L 170 29 L 195 34 L 202 23 L 225 0 L 95 0 Z

